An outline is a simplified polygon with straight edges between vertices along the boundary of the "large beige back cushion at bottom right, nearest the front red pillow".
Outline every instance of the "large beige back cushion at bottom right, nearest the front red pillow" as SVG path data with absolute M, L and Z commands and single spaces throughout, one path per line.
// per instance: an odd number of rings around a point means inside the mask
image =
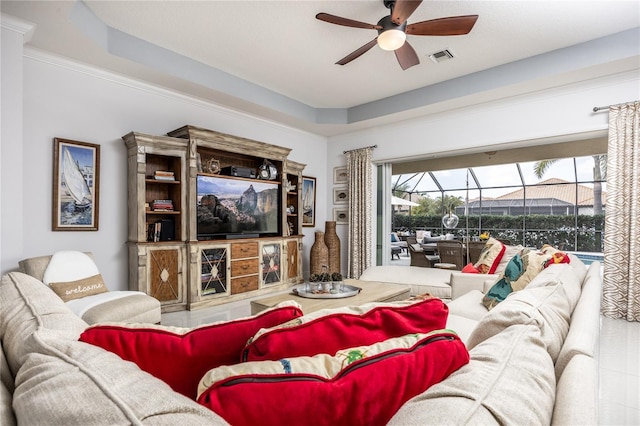
M 469 355 L 469 364 L 409 400 L 388 424 L 551 424 L 555 374 L 538 327 L 512 325 Z

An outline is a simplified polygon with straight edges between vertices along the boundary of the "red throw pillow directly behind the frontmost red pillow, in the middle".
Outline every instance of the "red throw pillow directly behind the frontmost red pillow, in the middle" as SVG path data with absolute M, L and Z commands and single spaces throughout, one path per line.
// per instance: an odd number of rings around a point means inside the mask
M 447 305 L 437 298 L 326 309 L 260 330 L 247 343 L 242 359 L 332 355 L 344 348 L 445 328 L 448 313 Z

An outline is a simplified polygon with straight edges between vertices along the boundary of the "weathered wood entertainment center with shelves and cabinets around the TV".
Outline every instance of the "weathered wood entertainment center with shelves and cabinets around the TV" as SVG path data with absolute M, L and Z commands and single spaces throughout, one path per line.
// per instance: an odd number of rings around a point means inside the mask
M 302 282 L 299 185 L 305 165 L 288 159 L 291 149 L 193 126 L 167 136 L 131 132 L 123 140 L 128 158 L 131 290 L 157 295 L 163 312 L 170 312 L 266 296 Z M 275 179 L 257 177 L 267 162 L 276 168 Z M 212 164 L 220 170 L 229 166 L 249 168 L 256 177 L 209 173 Z M 175 180 L 155 179 L 157 171 L 173 172 Z M 275 204 L 277 235 L 225 239 L 214 234 L 211 239 L 198 240 L 198 217 L 207 213 L 198 204 L 200 176 L 248 182 L 254 187 L 260 182 L 275 184 L 277 197 L 274 194 L 262 202 Z M 171 200 L 175 210 L 147 210 L 145 206 L 152 207 L 154 200 Z M 289 206 L 294 213 L 287 213 Z M 212 218 L 216 217 L 214 212 Z M 147 241 L 149 227 L 160 221 L 162 227 L 165 222 L 175 224 L 172 241 Z M 250 256 L 237 251 L 254 246 L 255 253 Z M 223 256 L 224 261 L 216 263 L 208 258 L 214 254 Z M 162 271 L 159 267 L 171 273 L 170 282 L 158 278 Z

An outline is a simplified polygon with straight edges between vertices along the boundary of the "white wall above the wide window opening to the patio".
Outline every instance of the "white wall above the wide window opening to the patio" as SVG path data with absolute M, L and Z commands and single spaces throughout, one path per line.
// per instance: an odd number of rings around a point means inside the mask
M 370 145 L 378 146 L 374 162 L 385 163 L 601 136 L 608 114 L 592 108 L 639 98 L 635 70 L 335 136 L 329 138 L 327 173 L 345 163 L 344 150 Z M 333 207 L 328 204 L 327 215 Z M 346 228 L 338 230 L 346 241 Z

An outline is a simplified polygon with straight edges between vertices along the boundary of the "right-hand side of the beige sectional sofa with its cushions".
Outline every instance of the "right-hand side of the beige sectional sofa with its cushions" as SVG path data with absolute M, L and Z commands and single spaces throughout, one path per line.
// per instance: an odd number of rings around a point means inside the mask
M 471 361 L 390 424 L 598 424 L 601 293 L 600 264 L 571 256 L 491 311 L 479 290 L 451 301 L 447 327 Z

